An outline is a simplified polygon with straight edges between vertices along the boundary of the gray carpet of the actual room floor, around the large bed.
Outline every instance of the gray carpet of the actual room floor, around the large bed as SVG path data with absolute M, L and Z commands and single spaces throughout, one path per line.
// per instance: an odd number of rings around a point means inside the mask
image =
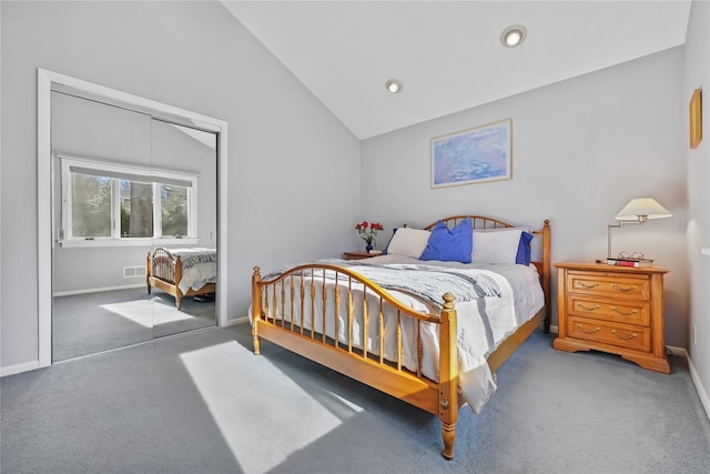
M 535 333 L 439 421 L 264 342 L 209 330 L 3 377 L 2 473 L 707 473 L 710 422 L 686 362 L 670 375 Z

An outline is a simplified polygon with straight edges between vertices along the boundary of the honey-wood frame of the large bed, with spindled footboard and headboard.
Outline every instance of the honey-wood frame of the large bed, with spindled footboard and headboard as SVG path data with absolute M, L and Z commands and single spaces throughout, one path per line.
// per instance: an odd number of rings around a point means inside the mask
M 452 228 L 456 225 L 460 220 L 467 218 L 467 215 L 456 215 L 446 218 L 443 221 Z M 506 222 L 480 216 L 470 215 L 474 222 L 474 229 L 494 229 L 494 228 L 511 228 L 511 224 Z M 438 222 L 438 221 L 437 221 Z M 425 229 L 430 229 L 436 222 L 427 225 Z M 488 365 L 490 371 L 495 372 L 514 351 L 540 325 L 545 324 L 545 332 L 549 332 L 550 324 L 550 225 L 546 220 L 540 230 L 532 232 L 536 239 L 532 243 L 540 249 L 539 260 L 535 260 L 531 264 L 538 270 L 540 275 L 540 283 L 545 294 L 545 306 L 527 323 L 523 324 L 514 334 L 508 336 L 499 347 L 490 354 L 488 357 Z M 534 254 L 535 258 L 535 254 Z M 389 306 L 389 310 L 396 311 L 397 314 L 397 361 L 392 363 L 383 360 L 382 355 L 375 355 L 369 351 L 362 351 L 353 346 L 353 325 L 351 323 L 348 333 L 348 342 L 343 343 L 324 334 L 314 332 L 312 330 L 304 330 L 303 326 L 293 324 L 293 311 L 294 304 L 301 305 L 301 314 L 303 317 L 311 317 L 311 327 L 314 317 L 323 317 L 323 327 L 325 327 L 325 314 L 313 314 L 313 306 L 311 313 L 308 309 L 304 307 L 304 291 L 303 283 L 301 291 L 294 288 L 294 274 L 304 275 L 300 281 L 306 280 L 312 274 L 322 274 L 325 270 L 332 270 L 337 272 L 341 279 L 347 279 L 348 288 L 353 283 L 362 284 L 365 286 L 367 295 L 376 294 L 379 299 L 379 334 L 384 332 L 383 329 L 383 312 L 385 306 Z M 290 283 L 287 283 L 290 282 Z M 311 294 L 312 299 L 315 299 L 315 290 L 313 280 L 311 280 Z M 278 295 L 282 297 L 285 295 L 285 285 L 291 284 L 291 291 L 288 292 L 290 301 L 278 300 Z M 320 283 L 315 283 L 318 285 Z M 306 291 L 308 291 L 306 289 Z M 294 297 L 294 293 L 301 294 L 301 299 Z M 323 294 L 327 292 L 322 291 Z M 341 291 L 335 292 L 335 304 L 339 303 Z M 331 296 L 323 296 L 323 307 L 326 307 L 326 299 Z M 342 297 L 348 297 L 352 301 L 353 294 L 348 291 L 347 294 Z M 285 297 L 284 297 L 285 300 Z M 363 297 L 364 300 L 364 297 Z M 397 399 L 404 400 L 422 410 L 425 410 L 432 414 L 437 415 L 442 420 L 442 435 L 444 438 L 443 456 L 447 460 L 454 458 L 454 443 L 456 437 L 456 421 L 458 418 L 458 409 L 463 406 L 464 402 L 459 399 L 458 394 L 458 363 L 457 363 L 457 320 L 456 309 L 454 305 L 454 296 L 450 293 L 443 295 L 444 309 L 440 314 L 424 314 L 413 311 L 412 309 L 403 305 L 394 296 L 392 296 L 386 290 L 374 283 L 373 281 L 351 272 L 349 270 L 341 266 L 325 265 L 325 264 L 308 264 L 301 265 L 278 275 L 271 281 L 262 280 L 260 268 L 254 268 L 252 276 L 252 336 L 254 343 L 254 353 L 261 353 L 260 339 L 263 337 L 267 341 L 283 346 L 290 351 L 293 351 L 300 355 L 305 356 L 312 361 L 315 361 L 322 365 L 325 365 L 336 372 L 345 374 L 356 381 L 365 383 L 374 389 L 393 395 Z M 277 306 L 278 305 L 278 306 Z M 308 304 L 306 304 L 308 306 Z M 363 314 L 359 315 L 364 319 L 363 331 L 367 332 L 367 310 L 365 309 Z M 348 303 L 348 307 L 351 304 Z M 281 310 L 280 316 L 274 316 L 276 311 Z M 305 310 L 305 311 L 304 311 Z M 352 311 L 351 311 L 352 313 Z M 417 354 L 419 356 L 419 364 L 416 372 L 408 371 L 402 365 L 402 334 L 400 334 L 400 319 L 413 317 L 417 321 L 417 334 L 419 334 L 419 325 L 423 322 L 429 322 L 439 324 L 439 382 L 434 382 L 422 375 L 422 341 L 418 340 Z M 352 322 L 353 315 L 349 315 Z M 335 323 L 337 324 L 337 322 Z M 326 331 L 323 331 L 324 333 Z M 336 331 L 337 333 L 337 326 Z M 381 347 L 378 354 L 383 354 L 383 343 L 379 334 L 375 334 L 373 340 L 381 341 Z M 367 335 L 363 334 L 363 340 L 366 340 Z M 417 339 L 419 339 L 417 336 Z

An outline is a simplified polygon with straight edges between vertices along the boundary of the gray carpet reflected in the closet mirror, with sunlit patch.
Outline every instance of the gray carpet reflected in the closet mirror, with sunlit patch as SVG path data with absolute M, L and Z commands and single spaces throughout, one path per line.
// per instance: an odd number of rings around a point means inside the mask
M 52 300 L 52 361 L 151 341 L 216 324 L 215 304 L 153 289 L 115 290 Z

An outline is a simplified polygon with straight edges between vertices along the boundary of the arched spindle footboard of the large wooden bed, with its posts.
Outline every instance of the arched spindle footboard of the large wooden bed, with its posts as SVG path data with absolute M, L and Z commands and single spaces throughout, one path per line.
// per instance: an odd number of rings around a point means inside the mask
M 341 281 L 334 285 L 333 292 L 326 288 L 325 272 L 332 272 Z M 454 457 L 460 402 L 457 393 L 456 310 L 450 293 L 444 295 L 440 314 L 425 314 L 404 306 L 371 280 L 333 265 L 302 265 L 270 281 L 262 281 L 256 266 L 252 282 L 252 335 L 255 354 L 260 354 L 260 337 L 264 337 L 439 416 L 444 437 L 443 454 L 447 458 Z M 341 288 L 346 290 L 339 290 Z M 362 290 L 362 293 L 358 291 L 356 294 L 353 290 L 355 288 Z M 337 317 L 328 321 L 328 307 L 345 310 L 341 314 L 344 326 L 339 326 Z M 393 357 L 388 357 L 392 361 L 385 357 L 386 314 L 392 315 L 394 320 L 390 321 L 396 322 L 395 351 Z M 373 316 L 375 321 L 372 320 Z M 403 324 L 414 324 L 416 327 L 416 369 L 412 371 L 404 366 Z M 422 375 L 422 324 L 439 325 L 438 383 Z M 356 333 L 356 327 L 362 332 Z M 392 327 L 388 326 L 387 330 Z M 368 341 L 373 344 L 368 345 Z

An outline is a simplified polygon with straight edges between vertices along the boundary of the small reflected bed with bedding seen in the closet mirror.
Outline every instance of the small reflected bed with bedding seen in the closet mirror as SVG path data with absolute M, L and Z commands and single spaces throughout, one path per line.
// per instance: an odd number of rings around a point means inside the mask
M 148 293 L 160 289 L 175 297 L 178 310 L 185 296 L 215 292 L 217 258 L 215 249 L 164 249 L 148 252 L 145 284 Z

